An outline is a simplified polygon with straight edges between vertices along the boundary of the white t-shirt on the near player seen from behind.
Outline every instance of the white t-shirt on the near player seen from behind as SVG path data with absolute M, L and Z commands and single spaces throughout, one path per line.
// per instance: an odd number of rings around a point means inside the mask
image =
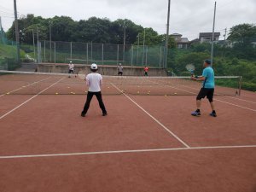
M 86 84 L 89 86 L 90 92 L 101 91 L 102 75 L 99 73 L 90 73 L 86 76 Z

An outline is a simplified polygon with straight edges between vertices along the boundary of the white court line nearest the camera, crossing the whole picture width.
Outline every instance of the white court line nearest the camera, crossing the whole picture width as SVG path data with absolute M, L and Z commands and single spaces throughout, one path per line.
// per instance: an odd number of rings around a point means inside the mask
M 137 150 L 119 150 L 119 151 L 96 151 L 70 154 L 27 154 L 27 155 L 11 155 L 0 156 L 3 159 L 20 159 L 20 158 L 37 158 L 37 157 L 60 157 L 60 156 L 78 156 L 90 154 L 135 154 L 146 152 L 161 152 L 161 151 L 184 151 L 184 150 L 206 150 L 206 149 L 228 149 L 228 148 L 256 148 L 256 145 L 241 145 L 241 146 L 212 146 L 212 147 L 192 147 L 192 148 L 153 148 L 153 149 L 137 149 Z

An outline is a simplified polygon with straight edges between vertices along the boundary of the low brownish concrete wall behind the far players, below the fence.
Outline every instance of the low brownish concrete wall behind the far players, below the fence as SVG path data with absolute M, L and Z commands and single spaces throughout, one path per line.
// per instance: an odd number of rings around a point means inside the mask
M 90 65 L 74 64 L 75 73 L 79 70 L 85 70 L 90 73 Z M 68 73 L 67 64 L 38 64 L 38 72 L 43 73 Z M 102 75 L 117 75 L 118 70 L 116 66 L 98 66 L 98 73 Z M 143 67 L 124 67 L 124 75 L 126 76 L 143 76 Z M 165 69 L 149 67 L 148 76 L 167 76 Z

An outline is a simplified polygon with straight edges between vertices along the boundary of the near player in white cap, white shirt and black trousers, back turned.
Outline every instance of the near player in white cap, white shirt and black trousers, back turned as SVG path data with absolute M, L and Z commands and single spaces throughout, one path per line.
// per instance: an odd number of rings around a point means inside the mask
M 107 111 L 105 108 L 105 105 L 102 101 L 102 75 L 99 73 L 96 73 L 98 67 L 95 63 L 91 64 L 90 71 L 92 73 L 88 74 L 85 78 L 87 86 L 89 86 L 87 99 L 84 104 L 84 110 L 81 113 L 82 117 L 85 117 L 85 114 L 87 113 L 88 109 L 90 108 L 90 101 L 94 95 L 96 95 L 96 98 L 99 102 L 100 108 L 102 108 L 102 116 L 107 115 Z

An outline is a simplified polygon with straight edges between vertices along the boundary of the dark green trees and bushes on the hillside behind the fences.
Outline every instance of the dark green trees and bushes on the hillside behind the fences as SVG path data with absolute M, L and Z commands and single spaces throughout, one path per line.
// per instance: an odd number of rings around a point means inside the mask
M 108 20 L 91 17 L 75 21 L 67 16 L 44 19 L 27 15 L 19 19 L 20 43 L 32 44 L 32 31 L 38 38 L 52 41 L 84 42 L 100 44 L 145 44 L 164 46 L 165 34 L 158 34 L 152 28 L 143 28 L 131 20 Z M 10 27 L 7 36 L 15 40 L 15 25 Z M 138 38 L 139 37 L 139 38 Z M 185 66 L 195 64 L 195 73 L 200 74 L 202 61 L 210 58 L 210 44 L 191 44 L 189 49 L 177 49 L 174 38 L 170 37 L 168 71 L 170 74 L 188 75 Z M 159 51 L 157 49 L 157 51 Z M 241 24 L 230 28 L 227 40 L 214 45 L 213 67 L 216 75 L 237 75 L 243 77 L 243 89 L 256 91 L 256 26 Z

